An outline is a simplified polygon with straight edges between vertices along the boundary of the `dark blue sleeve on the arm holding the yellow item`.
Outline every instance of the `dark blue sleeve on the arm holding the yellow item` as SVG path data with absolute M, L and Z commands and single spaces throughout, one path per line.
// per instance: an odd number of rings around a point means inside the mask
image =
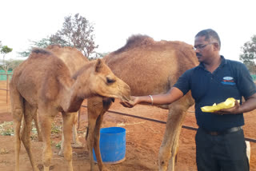
M 250 72 L 244 64 L 240 63 L 238 67 L 238 89 L 243 97 L 250 97 L 256 93 L 256 86 L 253 78 L 250 76 Z

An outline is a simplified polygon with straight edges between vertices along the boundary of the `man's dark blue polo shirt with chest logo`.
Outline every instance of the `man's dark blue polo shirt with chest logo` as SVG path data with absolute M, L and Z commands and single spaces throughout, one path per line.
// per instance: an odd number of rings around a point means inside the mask
M 205 105 L 218 104 L 234 97 L 242 102 L 243 97 L 256 93 L 256 87 L 246 66 L 222 57 L 222 63 L 211 74 L 202 64 L 186 70 L 174 85 L 183 94 L 191 90 L 195 101 L 195 116 L 199 127 L 209 131 L 222 131 L 244 125 L 243 114 L 218 115 L 202 112 Z

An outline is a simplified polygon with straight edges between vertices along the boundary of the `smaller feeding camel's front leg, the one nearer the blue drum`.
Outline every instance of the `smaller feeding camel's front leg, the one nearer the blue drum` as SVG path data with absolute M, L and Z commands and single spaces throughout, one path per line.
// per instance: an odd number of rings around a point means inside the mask
M 72 148 L 71 148 L 71 138 L 72 138 L 72 126 L 76 113 L 62 113 L 63 118 L 63 154 L 68 162 L 68 170 L 73 171 L 72 165 Z

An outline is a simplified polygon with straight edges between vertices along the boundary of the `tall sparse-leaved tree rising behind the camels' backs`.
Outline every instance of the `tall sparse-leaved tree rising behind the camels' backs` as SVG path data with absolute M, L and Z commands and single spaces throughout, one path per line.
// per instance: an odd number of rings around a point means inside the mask
M 94 49 L 98 45 L 94 43 L 94 26 L 84 17 L 79 14 L 67 16 L 63 22 L 62 30 L 50 36 L 50 42 L 72 46 L 81 50 L 82 53 L 90 58 L 94 53 Z

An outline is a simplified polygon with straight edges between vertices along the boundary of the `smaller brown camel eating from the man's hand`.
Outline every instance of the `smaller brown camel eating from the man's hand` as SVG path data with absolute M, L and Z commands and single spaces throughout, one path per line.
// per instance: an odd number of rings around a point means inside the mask
M 31 121 L 37 113 L 42 128 L 44 149 L 42 162 L 48 171 L 52 157 L 50 129 L 54 116 L 62 113 L 64 134 L 64 157 L 68 170 L 72 171 L 71 134 L 74 112 L 88 97 L 130 97 L 130 88 L 111 72 L 102 60 L 98 59 L 83 66 L 74 75 L 60 58 L 49 50 L 35 49 L 30 57 L 14 70 L 10 82 L 10 100 L 14 118 L 15 170 L 19 169 L 21 141 L 30 157 L 33 170 L 34 157 L 30 148 Z M 24 117 L 22 131 L 21 121 Z

